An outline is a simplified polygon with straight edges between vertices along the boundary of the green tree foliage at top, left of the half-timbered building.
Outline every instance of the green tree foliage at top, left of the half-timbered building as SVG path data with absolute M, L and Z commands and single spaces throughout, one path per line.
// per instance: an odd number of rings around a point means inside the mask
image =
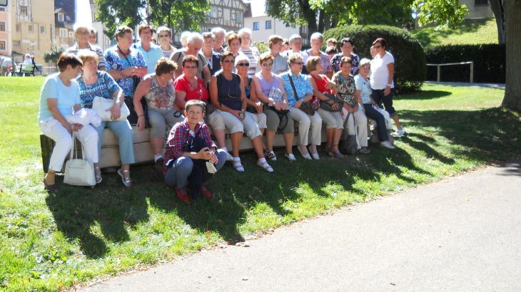
M 117 26 L 135 27 L 143 22 L 167 26 L 172 33 L 199 29 L 210 10 L 206 0 L 96 0 L 98 19 L 106 26 L 106 35 L 113 36 Z

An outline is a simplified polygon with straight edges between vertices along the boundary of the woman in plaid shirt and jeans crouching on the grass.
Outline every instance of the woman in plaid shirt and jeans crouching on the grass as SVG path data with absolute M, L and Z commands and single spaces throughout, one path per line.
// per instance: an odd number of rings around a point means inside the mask
M 171 130 L 166 141 L 163 156 L 165 163 L 165 182 L 176 187 L 176 194 L 181 201 L 190 204 L 186 186 L 190 183 L 192 199 L 202 192 L 208 199 L 212 193 L 204 186 L 211 172 L 211 164 L 220 170 L 226 162 L 228 154 L 217 149 L 211 140 L 208 126 L 203 122 L 205 103 L 201 100 L 188 100 L 185 105 L 183 122 L 178 122 Z M 212 173 L 213 173 L 212 172 Z

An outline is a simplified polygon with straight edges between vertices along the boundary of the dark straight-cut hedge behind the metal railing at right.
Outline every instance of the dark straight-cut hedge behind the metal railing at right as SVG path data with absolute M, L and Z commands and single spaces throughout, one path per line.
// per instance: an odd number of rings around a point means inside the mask
M 474 82 L 505 83 L 505 45 L 435 46 L 425 51 L 427 63 L 474 61 Z M 428 66 L 427 80 L 436 80 L 437 68 Z M 442 66 L 440 81 L 469 82 L 470 65 Z

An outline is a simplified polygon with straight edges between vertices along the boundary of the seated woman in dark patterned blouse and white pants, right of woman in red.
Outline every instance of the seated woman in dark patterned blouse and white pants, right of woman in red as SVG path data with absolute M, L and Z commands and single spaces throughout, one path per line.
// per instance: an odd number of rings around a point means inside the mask
M 355 135 L 356 132 L 358 137 L 358 153 L 367 154 L 370 152 L 368 149 L 368 119 L 360 107 L 362 104 L 360 96 L 355 96 L 355 79 L 350 72 L 351 58 L 342 57 L 340 59 L 340 71 L 333 75 L 333 83 L 337 85 L 338 95 L 345 101 L 344 108 L 342 109 L 343 119 L 345 120 L 350 114 L 348 133 L 349 135 Z

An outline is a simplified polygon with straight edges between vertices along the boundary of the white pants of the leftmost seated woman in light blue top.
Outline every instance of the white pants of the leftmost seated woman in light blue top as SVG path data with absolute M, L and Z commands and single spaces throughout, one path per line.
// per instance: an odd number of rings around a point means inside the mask
M 55 118 L 47 118 L 39 122 L 41 133 L 50 137 L 56 145 L 54 145 L 51 160 L 49 161 L 49 170 L 60 172 L 64 166 L 65 157 L 70 155 L 72 148 L 72 137 L 69 131 L 61 125 L 59 120 Z M 73 127 L 71 125 L 71 127 Z M 88 162 L 98 162 L 98 132 L 91 125 L 84 125 L 78 132 L 76 137 L 82 145 L 84 145 L 84 158 Z

